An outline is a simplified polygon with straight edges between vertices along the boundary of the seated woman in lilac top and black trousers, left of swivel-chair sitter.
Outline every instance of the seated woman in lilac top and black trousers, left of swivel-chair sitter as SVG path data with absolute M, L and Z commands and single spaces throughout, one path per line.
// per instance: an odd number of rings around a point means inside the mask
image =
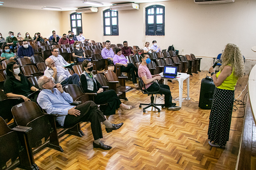
M 120 64 L 121 72 L 130 73 L 132 83 L 137 86 L 136 76 L 138 76 L 138 69 L 132 64 L 128 63 L 127 58 L 122 55 L 122 50 L 120 48 L 116 49 L 116 55 L 113 58 L 114 64 Z

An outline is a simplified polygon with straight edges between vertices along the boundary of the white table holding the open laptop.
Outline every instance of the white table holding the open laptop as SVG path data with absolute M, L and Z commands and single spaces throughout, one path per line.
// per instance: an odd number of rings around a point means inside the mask
M 179 75 L 181 74 L 181 75 Z M 162 73 L 160 73 L 162 75 Z M 176 78 L 162 78 L 163 84 L 167 85 L 167 80 L 177 80 L 179 82 L 179 106 L 182 106 L 183 81 L 187 80 L 187 100 L 190 100 L 190 75 L 187 73 L 178 73 Z

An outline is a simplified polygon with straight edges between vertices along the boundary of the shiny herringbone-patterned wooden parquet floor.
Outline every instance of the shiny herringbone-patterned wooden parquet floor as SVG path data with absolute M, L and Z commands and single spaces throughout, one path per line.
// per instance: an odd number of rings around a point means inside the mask
M 40 170 L 234 170 L 243 118 L 232 118 L 229 141 L 224 149 L 208 144 L 210 110 L 198 108 L 201 79 L 206 74 L 199 72 L 190 77 L 190 97 L 197 102 L 185 100 L 180 111 L 162 109 L 161 113 L 149 108 L 143 114 L 139 103 L 149 103 L 150 97 L 127 81 L 134 89 L 127 92 L 128 101 L 123 102 L 132 105 L 132 109 L 117 111 L 109 117 L 112 123 L 124 122 L 123 127 L 106 133 L 102 125 L 102 142 L 112 149 L 94 149 L 90 123 L 83 123 L 85 136 L 64 135 L 60 138 L 64 152 L 45 148 L 34 155 L 35 163 Z M 247 81 L 248 76 L 238 80 L 235 97 Z M 168 82 L 168 85 L 173 98 L 178 97 L 178 82 Z M 184 90 L 187 91 L 186 83 Z M 232 116 L 243 114 L 243 108 L 239 108 Z

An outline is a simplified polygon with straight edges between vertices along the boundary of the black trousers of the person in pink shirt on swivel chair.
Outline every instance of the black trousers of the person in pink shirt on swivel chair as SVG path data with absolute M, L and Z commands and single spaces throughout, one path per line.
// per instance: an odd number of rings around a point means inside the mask
M 156 83 L 153 83 L 147 88 L 147 91 L 158 91 L 160 94 L 164 94 L 164 107 L 172 106 L 172 96 L 169 85 L 163 85 L 159 84 L 159 86 Z

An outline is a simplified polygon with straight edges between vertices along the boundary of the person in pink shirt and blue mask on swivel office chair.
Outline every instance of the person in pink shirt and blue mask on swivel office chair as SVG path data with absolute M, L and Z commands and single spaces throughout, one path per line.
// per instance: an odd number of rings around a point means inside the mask
M 163 84 L 159 84 L 159 87 L 156 83 L 156 80 L 161 80 L 160 75 L 150 74 L 150 71 L 147 67 L 147 64 L 151 62 L 149 55 L 146 53 L 141 54 L 140 61 L 141 64 L 138 69 L 138 74 L 139 77 L 142 79 L 143 83 L 145 84 L 147 91 L 158 91 L 160 89 L 159 93 L 164 94 L 164 107 L 168 108 L 168 110 L 170 111 L 180 110 L 181 107 L 176 107 L 176 103 L 172 103 L 170 87 Z M 144 86 L 142 87 L 142 89 L 144 89 Z

